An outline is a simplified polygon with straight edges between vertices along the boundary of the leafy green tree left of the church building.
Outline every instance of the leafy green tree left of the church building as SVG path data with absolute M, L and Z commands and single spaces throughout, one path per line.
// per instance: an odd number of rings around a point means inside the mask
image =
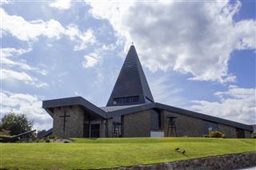
M 24 114 L 9 113 L 2 117 L 0 129 L 9 130 L 10 135 L 18 135 L 30 131 L 33 121 L 28 120 Z

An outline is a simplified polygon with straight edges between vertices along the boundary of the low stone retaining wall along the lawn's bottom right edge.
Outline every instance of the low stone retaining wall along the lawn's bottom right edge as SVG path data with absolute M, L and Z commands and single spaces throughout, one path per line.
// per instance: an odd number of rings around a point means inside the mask
M 237 169 L 256 165 L 256 152 L 207 157 L 196 160 L 180 160 L 164 164 L 139 165 L 113 170 L 171 170 L 171 169 Z

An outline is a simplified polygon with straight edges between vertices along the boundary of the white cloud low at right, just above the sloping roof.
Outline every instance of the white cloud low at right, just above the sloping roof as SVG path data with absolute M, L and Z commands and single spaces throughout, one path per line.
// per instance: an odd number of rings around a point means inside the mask
M 220 102 L 193 101 L 191 109 L 214 117 L 222 117 L 246 124 L 256 124 L 255 89 L 230 85 L 228 91 L 217 92 Z

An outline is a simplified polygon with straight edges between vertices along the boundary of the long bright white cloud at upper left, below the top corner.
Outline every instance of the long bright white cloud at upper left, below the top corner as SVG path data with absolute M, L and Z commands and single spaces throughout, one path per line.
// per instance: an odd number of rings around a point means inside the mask
M 54 19 L 47 22 L 42 20 L 28 22 L 21 16 L 7 14 L 2 8 L 0 8 L 0 15 L 3 23 L 1 27 L 3 34 L 11 34 L 21 41 L 30 42 L 30 44 L 31 42 L 38 41 L 40 36 L 56 39 L 67 36 L 71 41 L 78 44 L 74 46 L 75 50 L 85 49 L 86 45 L 96 42 L 94 31 L 91 29 L 81 32 L 73 24 L 65 28 L 60 22 Z

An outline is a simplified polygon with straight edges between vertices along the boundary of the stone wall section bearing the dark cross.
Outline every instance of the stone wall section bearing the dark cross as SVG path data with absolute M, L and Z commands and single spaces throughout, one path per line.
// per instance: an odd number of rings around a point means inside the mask
M 63 131 L 64 111 L 66 110 L 65 132 Z M 82 137 L 84 113 L 79 106 L 54 108 L 53 135 L 61 137 Z

